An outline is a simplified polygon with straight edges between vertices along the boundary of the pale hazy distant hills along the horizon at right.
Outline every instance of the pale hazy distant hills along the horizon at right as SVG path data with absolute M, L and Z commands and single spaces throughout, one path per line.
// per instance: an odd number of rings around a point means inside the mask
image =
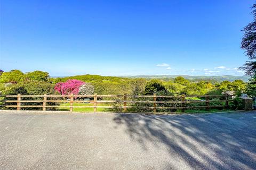
M 209 80 L 209 81 L 234 81 L 237 79 L 243 80 L 245 82 L 248 81 L 249 77 L 246 76 L 234 76 L 234 75 L 216 75 L 216 76 L 205 76 L 205 75 L 197 75 L 197 76 L 191 76 L 191 75 L 128 75 L 123 76 L 125 78 L 145 78 L 145 79 L 174 79 L 176 77 L 183 77 L 185 79 L 191 80 L 191 81 L 199 81 L 199 80 Z

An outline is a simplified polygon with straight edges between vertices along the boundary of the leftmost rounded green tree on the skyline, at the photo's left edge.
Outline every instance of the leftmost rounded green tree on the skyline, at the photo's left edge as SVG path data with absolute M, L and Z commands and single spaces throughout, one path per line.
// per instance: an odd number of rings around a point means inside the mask
M 24 73 L 19 70 L 12 70 L 10 72 L 3 72 L 0 76 L 1 83 L 18 83 L 24 78 Z

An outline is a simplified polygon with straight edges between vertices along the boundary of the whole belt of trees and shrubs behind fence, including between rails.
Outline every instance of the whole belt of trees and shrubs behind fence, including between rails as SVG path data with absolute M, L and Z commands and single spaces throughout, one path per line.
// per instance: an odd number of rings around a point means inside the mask
M 3 77 L 2 77 L 3 76 Z M 144 79 L 144 78 L 119 78 L 119 77 L 102 77 L 100 75 L 79 75 L 68 78 L 49 78 L 47 72 L 35 71 L 23 74 L 21 71 L 13 70 L 6 72 L 0 76 L 0 91 L 3 95 L 43 95 L 43 94 L 62 94 L 69 95 L 221 95 L 233 92 L 233 94 L 240 96 L 243 92 L 247 92 L 250 96 L 255 96 L 255 78 L 251 79 L 249 83 L 242 80 L 235 81 L 191 81 L 182 77 L 175 79 Z M 74 79 L 77 78 L 77 79 Z M 248 88 L 250 87 L 250 88 Z M 42 97 L 37 98 L 22 98 L 22 100 L 42 100 Z M 50 99 L 50 98 L 48 98 Z M 52 98 L 54 100 L 56 98 Z M 84 98 L 79 98 L 84 99 Z M 99 100 L 108 100 L 110 98 L 99 98 Z M 149 100 L 150 98 L 136 98 L 133 100 Z M 197 98 L 204 99 L 204 98 Z M 10 100 L 10 98 L 9 98 Z M 17 98 L 13 98 L 17 100 Z M 111 98 L 110 100 L 122 100 L 120 98 Z M 130 100 L 130 99 L 129 99 Z M 150 99 L 151 100 L 151 99 Z M 157 98 L 157 101 L 177 100 L 180 98 Z M 238 100 L 238 99 L 237 99 Z M 10 105 L 12 103 L 9 103 Z M 49 103 L 50 104 L 50 103 Z M 215 103 L 214 105 L 221 105 Z M 14 103 L 15 105 L 15 103 Z M 42 103 L 22 103 L 22 105 L 42 105 Z M 51 105 L 58 105 L 51 103 Z M 123 103 L 113 103 L 115 106 L 121 106 Z M 136 103 L 136 106 L 149 106 L 151 103 Z M 158 103 L 158 106 L 163 107 L 180 107 L 181 104 L 174 103 Z M 188 104 L 187 106 L 201 106 L 204 103 Z M 237 103 L 237 105 L 240 105 Z M 233 108 L 237 106 L 232 106 Z M 34 109 L 34 108 L 31 108 Z M 37 108 L 36 108 L 37 109 Z M 140 107 L 134 111 L 150 111 L 145 107 Z M 161 110 L 165 112 L 165 110 Z M 173 112 L 176 110 L 173 109 Z

